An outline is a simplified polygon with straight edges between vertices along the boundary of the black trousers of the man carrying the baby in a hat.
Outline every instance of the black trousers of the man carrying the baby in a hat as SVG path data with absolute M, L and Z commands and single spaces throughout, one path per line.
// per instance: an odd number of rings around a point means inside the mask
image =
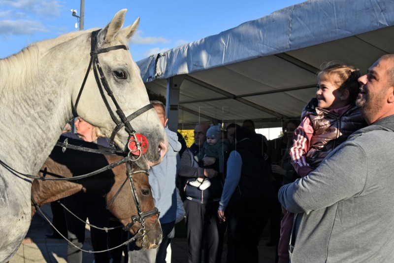
M 203 250 L 204 263 L 216 263 L 218 252 L 223 249 L 223 247 L 219 247 L 219 219 L 217 216 L 219 202 L 201 204 L 186 199 L 184 206 L 189 244 L 188 262 L 201 263 L 201 251 Z

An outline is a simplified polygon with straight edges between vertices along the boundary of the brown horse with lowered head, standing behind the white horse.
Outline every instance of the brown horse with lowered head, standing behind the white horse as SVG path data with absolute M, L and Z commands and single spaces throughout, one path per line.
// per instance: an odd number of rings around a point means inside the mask
M 65 137 L 61 137 L 64 141 Z M 67 138 L 68 144 L 90 149 L 104 149 L 97 144 Z M 123 156 L 99 154 L 80 150 L 66 149 L 56 146 L 42 166 L 39 176 L 45 178 L 70 178 L 91 173 L 121 160 Z M 60 198 L 84 191 L 105 196 L 108 210 L 130 229 L 132 235 L 145 232 L 143 238 L 136 240 L 136 245 L 146 248 L 156 248 L 162 238 L 162 229 L 155 213 L 155 204 L 148 181 L 148 172 L 140 170 L 131 163 L 131 181 L 126 171 L 126 163 L 112 169 L 106 169 L 97 175 L 76 181 L 42 181 L 34 180 L 32 184 L 32 200 L 38 205 L 53 202 Z M 135 203 L 134 189 L 140 213 L 153 215 L 139 220 Z M 32 217 L 36 208 L 32 201 Z M 143 214 L 144 215 L 144 214 Z M 134 223 L 133 223 L 134 218 Z M 136 219 L 136 220 L 135 220 Z M 142 224 L 144 222 L 144 224 Z M 143 226 L 145 225 L 145 226 Z M 144 230 L 140 230 L 144 229 Z

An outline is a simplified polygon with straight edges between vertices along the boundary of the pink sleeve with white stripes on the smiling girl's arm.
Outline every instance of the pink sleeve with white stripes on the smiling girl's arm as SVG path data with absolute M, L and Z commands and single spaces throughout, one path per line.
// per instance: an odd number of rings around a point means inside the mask
M 306 162 L 305 155 L 309 150 L 313 135 L 313 127 L 308 117 L 305 117 L 296 128 L 293 135 L 293 147 L 290 149 L 291 162 L 299 176 L 308 175 L 313 169 Z

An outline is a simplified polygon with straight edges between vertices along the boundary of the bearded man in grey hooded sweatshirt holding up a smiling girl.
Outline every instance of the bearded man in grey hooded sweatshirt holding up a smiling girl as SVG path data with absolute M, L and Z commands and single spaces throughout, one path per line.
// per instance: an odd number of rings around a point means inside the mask
M 279 191 L 286 210 L 298 213 L 292 263 L 394 260 L 394 54 L 382 56 L 359 82 L 356 105 L 369 126 Z

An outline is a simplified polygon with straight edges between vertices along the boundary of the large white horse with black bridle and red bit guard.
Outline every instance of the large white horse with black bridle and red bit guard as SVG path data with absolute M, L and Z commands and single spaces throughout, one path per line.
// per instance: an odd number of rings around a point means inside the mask
M 139 19 L 122 29 L 126 11 L 94 34 L 80 31 L 40 41 L 0 60 L 0 262 L 15 254 L 31 223 L 32 180 L 20 173 L 38 173 L 73 109 L 107 137 L 117 131 L 114 142 L 121 149 L 127 148 L 131 130 L 143 134 L 149 147 L 136 162 L 141 168 L 162 160 L 168 145 L 164 129 L 155 110 L 144 107 L 148 95 L 128 50 Z M 101 74 L 97 82 L 95 75 Z M 101 82 L 108 83 L 113 98 L 107 91 L 100 94 Z M 137 116 L 129 117 L 132 113 Z

